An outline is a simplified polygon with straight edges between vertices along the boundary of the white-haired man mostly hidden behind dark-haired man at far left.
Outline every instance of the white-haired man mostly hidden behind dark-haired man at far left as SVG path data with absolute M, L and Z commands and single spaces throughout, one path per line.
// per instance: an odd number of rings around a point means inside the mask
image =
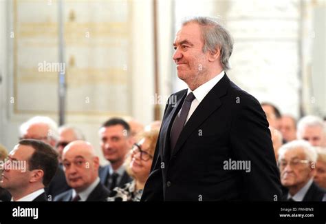
M 58 125 L 48 116 L 34 116 L 19 127 L 20 139 L 35 139 L 43 141 L 56 147 L 59 139 Z M 65 173 L 58 167 L 50 185 L 45 188 L 45 192 L 50 196 L 50 200 L 61 192 L 70 189 L 65 181 Z

